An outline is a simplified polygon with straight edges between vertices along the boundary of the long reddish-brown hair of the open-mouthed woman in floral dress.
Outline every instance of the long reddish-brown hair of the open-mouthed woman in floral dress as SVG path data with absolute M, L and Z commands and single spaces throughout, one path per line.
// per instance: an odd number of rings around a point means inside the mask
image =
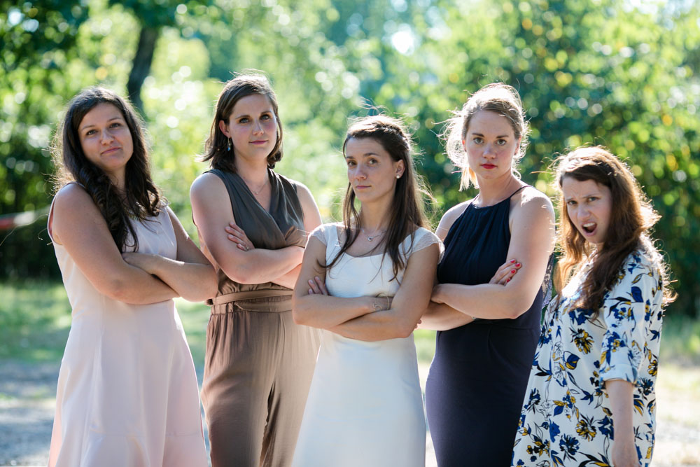
M 659 215 L 624 162 L 607 149 L 594 146 L 577 148 L 559 157 L 555 164 L 555 183 L 560 193 L 563 179 L 571 177 L 577 181 L 592 180 L 607 186 L 612 197 L 603 247 L 596 249 L 570 220 L 563 193 L 559 196 L 557 236 L 563 256 L 554 276 L 554 285 L 559 293 L 557 298 L 561 298 L 563 286 L 577 267 L 584 260 L 592 258 L 593 264 L 582 284 L 582 298 L 578 305 L 593 309 L 592 319 L 596 319 L 605 293 L 619 279 L 625 259 L 633 251 L 642 249 L 659 265 L 664 285 L 664 304 L 673 301 L 675 294 L 668 286 L 668 267 L 650 238 L 650 229 L 659 220 Z

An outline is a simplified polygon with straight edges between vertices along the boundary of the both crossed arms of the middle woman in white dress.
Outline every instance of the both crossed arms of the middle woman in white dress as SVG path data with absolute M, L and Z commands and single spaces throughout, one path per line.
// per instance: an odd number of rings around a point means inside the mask
M 407 337 L 416 328 L 430 300 L 440 249 L 437 244 L 416 251 L 408 260 L 401 285 L 391 299 L 360 296 L 342 298 L 325 290 L 325 245 L 309 238 L 302 271 L 294 288 L 293 316 L 296 323 L 328 329 L 357 340 L 386 340 Z M 316 279 L 318 278 L 318 279 Z M 314 291 L 316 290 L 316 292 Z M 317 293 L 317 291 L 321 291 Z

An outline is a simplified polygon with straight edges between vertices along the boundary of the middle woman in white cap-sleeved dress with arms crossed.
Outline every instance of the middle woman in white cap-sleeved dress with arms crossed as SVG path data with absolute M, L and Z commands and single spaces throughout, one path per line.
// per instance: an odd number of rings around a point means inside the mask
M 358 120 L 343 153 L 344 221 L 314 230 L 294 290 L 295 321 L 323 333 L 292 464 L 424 466 L 412 332 L 430 300 L 440 241 L 426 229 L 400 121 Z

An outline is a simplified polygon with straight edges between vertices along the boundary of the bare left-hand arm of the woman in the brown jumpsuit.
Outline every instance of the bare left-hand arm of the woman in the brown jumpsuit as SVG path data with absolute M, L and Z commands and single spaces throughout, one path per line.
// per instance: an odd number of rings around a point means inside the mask
M 235 223 L 228 191 L 214 174 L 202 174 L 190 188 L 192 213 L 209 253 L 219 267 L 239 284 L 262 284 L 293 270 L 301 263 L 304 249 L 287 246 L 279 250 L 243 251 L 230 242 L 225 227 Z

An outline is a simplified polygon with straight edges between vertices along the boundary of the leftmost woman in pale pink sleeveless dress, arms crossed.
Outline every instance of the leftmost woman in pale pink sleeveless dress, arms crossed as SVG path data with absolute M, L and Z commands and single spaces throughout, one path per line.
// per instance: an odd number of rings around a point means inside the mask
M 172 298 L 216 274 L 160 197 L 132 106 L 73 98 L 48 231 L 72 307 L 49 466 L 207 466 L 197 377 Z

